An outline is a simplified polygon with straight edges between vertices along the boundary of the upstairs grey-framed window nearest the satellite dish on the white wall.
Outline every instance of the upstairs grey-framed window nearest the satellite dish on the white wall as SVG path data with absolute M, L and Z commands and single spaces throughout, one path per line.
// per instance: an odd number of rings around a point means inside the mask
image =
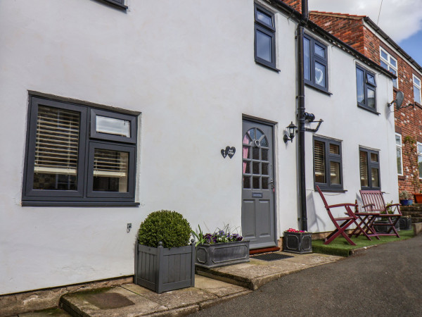
M 375 74 L 356 66 L 357 105 L 376 112 Z

